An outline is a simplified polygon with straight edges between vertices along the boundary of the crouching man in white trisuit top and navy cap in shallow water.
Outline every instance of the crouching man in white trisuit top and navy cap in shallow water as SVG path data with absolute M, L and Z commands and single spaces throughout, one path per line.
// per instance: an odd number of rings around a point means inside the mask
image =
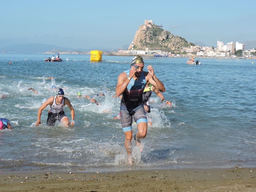
M 42 110 L 45 109 L 48 105 L 50 105 L 50 110 L 48 112 L 48 118 L 47 118 L 47 125 L 48 126 L 54 126 L 56 121 L 61 122 L 65 127 L 74 126 L 74 118 L 75 118 L 75 112 L 73 109 L 73 106 L 71 105 L 68 98 L 64 97 L 64 91 L 63 89 L 57 89 L 56 90 L 57 95 L 52 96 L 44 102 L 40 108 L 38 109 L 37 114 L 37 122 L 35 123 L 36 126 L 41 124 L 40 118 Z M 66 116 L 65 112 L 63 111 L 63 106 L 67 105 L 70 109 L 71 113 L 71 122 L 69 123 L 69 119 Z

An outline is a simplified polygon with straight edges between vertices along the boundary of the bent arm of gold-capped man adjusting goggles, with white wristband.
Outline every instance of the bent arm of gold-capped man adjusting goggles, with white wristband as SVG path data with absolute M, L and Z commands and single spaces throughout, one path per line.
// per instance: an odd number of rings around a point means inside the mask
M 136 71 L 137 70 L 135 69 L 135 67 L 132 66 L 128 77 L 133 78 Z M 119 74 L 119 76 L 117 78 L 117 84 L 115 87 L 115 93 L 117 96 L 121 95 L 124 92 L 125 88 L 127 87 L 128 83 L 130 82 L 130 79 L 128 79 L 128 77 L 125 72 L 122 72 Z

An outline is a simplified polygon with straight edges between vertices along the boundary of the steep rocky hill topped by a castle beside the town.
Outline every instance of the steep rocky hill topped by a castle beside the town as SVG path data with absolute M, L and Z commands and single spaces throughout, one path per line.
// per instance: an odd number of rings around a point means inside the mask
M 144 25 L 141 25 L 135 33 L 134 50 L 145 50 L 148 47 L 150 50 L 179 50 L 181 46 L 189 47 L 195 45 L 188 42 L 185 38 L 173 35 L 169 31 L 162 29 L 152 23 L 152 20 L 145 20 Z M 132 49 L 130 44 L 128 50 Z

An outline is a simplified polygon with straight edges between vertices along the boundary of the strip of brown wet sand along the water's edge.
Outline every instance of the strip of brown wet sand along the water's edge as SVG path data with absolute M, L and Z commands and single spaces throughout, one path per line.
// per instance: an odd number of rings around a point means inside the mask
M 2 172 L 0 191 L 256 191 L 256 168 Z

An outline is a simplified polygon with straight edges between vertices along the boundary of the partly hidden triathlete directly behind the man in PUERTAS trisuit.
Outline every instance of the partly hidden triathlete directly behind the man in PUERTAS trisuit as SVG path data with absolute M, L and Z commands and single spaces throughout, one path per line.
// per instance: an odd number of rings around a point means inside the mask
M 150 105 L 149 105 L 149 100 L 152 94 L 152 91 L 155 92 L 155 94 L 161 99 L 161 102 L 164 100 L 164 95 L 162 93 L 160 93 L 154 86 L 152 86 L 150 84 L 150 82 L 147 82 L 146 87 L 143 91 L 143 105 L 144 105 L 144 109 L 145 112 L 147 114 L 147 124 L 148 125 L 152 125 L 152 117 L 148 115 L 148 113 L 150 113 L 151 109 L 150 109 Z

